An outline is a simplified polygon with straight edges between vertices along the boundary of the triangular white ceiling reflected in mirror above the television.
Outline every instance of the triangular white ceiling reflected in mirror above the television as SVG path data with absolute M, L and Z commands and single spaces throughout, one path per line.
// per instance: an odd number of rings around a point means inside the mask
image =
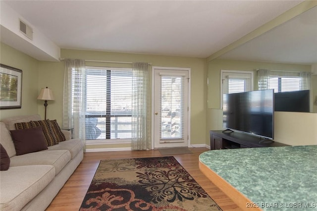
M 219 58 L 317 64 L 317 6 Z

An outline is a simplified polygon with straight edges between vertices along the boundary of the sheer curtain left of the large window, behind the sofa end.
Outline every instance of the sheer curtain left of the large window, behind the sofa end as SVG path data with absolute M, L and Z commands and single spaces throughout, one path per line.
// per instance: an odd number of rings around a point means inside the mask
M 63 127 L 73 128 L 73 138 L 85 141 L 85 61 L 65 59 Z

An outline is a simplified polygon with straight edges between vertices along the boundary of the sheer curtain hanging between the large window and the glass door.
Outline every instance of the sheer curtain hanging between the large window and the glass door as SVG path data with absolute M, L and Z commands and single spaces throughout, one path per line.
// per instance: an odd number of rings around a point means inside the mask
M 148 63 L 132 64 L 132 150 L 151 149 Z

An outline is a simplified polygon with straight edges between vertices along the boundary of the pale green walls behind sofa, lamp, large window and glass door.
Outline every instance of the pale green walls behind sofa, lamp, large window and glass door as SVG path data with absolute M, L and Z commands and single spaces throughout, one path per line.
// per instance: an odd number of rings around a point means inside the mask
M 87 50 L 61 50 L 62 58 L 85 60 L 110 60 L 123 62 L 148 62 L 152 66 L 191 68 L 191 143 L 205 144 L 207 68 L 202 58 L 112 53 Z M 62 96 L 64 62 L 38 61 L 14 48 L 1 43 L 2 64 L 22 69 L 22 108 L 0 110 L 0 119 L 17 115 L 40 114 L 44 119 L 44 102 L 37 100 L 41 88 L 52 88 L 55 100 L 48 102 L 47 118 L 62 121 Z M 86 62 L 88 66 L 131 67 L 130 64 Z M 95 145 L 87 148 L 118 147 L 118 145 Z M 127 147 L 126 144 L 122 147 Z

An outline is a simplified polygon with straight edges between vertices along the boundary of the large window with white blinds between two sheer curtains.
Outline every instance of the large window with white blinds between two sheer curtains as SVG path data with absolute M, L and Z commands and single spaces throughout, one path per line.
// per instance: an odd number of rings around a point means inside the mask
M 132 69 L 86 67 L 86 139 L 131 139 Z

